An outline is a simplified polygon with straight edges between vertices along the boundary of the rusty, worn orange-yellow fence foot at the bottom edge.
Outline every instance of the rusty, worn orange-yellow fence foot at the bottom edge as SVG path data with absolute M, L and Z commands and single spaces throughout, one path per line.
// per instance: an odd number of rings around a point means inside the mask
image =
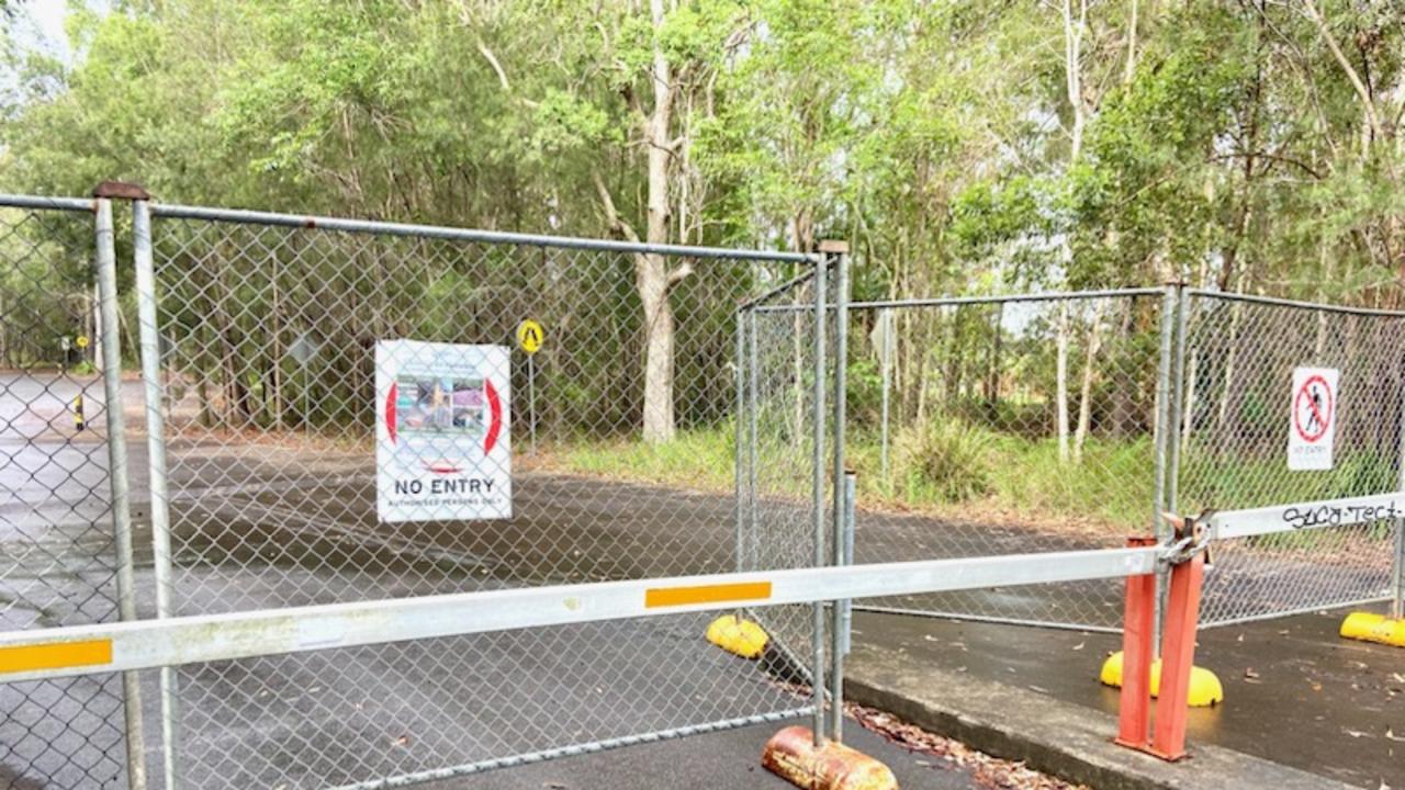
M 762 751 L 766 770 L 804 790 L 898 790 L 888 766 L 843 744 L 815 746 L 808 727 L 787 727 Z

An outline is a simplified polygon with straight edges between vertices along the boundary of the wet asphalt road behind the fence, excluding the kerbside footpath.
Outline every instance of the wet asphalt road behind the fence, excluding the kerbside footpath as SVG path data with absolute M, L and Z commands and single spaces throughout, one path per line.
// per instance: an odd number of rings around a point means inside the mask
M 0 471 L 7 484 L 0 502 L 0 592 L 7 597 L 0 617 L 6 627 L 114 616 L 111 536 L 93 527 L 107 510 L 101 423 L 74 439 L 66 412 L 80 387 L 93 420 L 101 415 L 100 384 L 0 378 Z M 135 382 L 124 396 L 129 425 L 139 426 Z M 139 430 L 129 434 L 129 450 L 138 606 L 150 616 L 155 585 Z M 732 566 L 726 496 L 521 468 L 511 522 L 392 526 L 375 519 L 370 458 L 351 443 L 309 446 L 294 436 L 254 446 L 243 437 L 205 433 L 173 439 L 169 468 L 177 613 Z M 794 509 L 773 503 L 762 522 L 770 566 L 808 561 L 808 545 L 797 538 L 806 534 L 808 517 L 797 519 Z M 787 531 L 797 522 L 798 533 Z M 870 519 L 860 529 L 860 561 L 1121 540 L 1052 537 L 1009 524 L 947 524 L 916 516 Z M 1120 585 L 998 589 L 898 603 L 1114 623 Z M 766 616 L 783 645 L 806 641 L 808 609 L 783 607 Z M 183 668 L 177 672 L 181 773 L 195 787 L 351 784 L 804 704 L 774 682 L 787 668 L 783 655 L 773 652 L 763 663 L 729 656 L 702 642 L 707 621 L 705 616 L 660 617 Z M 985 663 L 999 665 L 998 656 Z M 0 772 L 11 772 L 10 786 L 27 787 L 28 779 L 21 777 L 45 775 L 55 777 L 53 787 L 119 786 L 117 692 L 111 678 L 0 689 L 0 708 L 7 711 L 0 721 L 0 765 L 7 768 Z M 148 765 L 155 772 L 159 708 L 153 678 L 145 678 L 143 696 Z M 732 737 L 708 738 L 731 744 L 731 752 L 740 749 Z M 674 758 L 673 749 L 688 752 L 694 741 L 701 748 L 704 741 L 690 738 L 669 742 L 666 749 L 634 746 L 610 755 L 621 755 L 621 763 L 652 765 L 651 776 L 662 783 L 693 765 Z M 742 753 L 738 765 L 753 766 L 754 744 Z M 601 756 L 547 765 L 593 759 L 614 762 Z M 698 751 L 697 759 L 698 770 L 722 770 L 707 751 Z M 721 762 L 736 759 L 729 753 Z M 492 783 L 516 782 L 507 777 L 520 770 L 488 773 L 481 780 L 489 784 L 472 786 L 513 786 Z M 594 777 L 577 776 L 579 786 L 627 786 L 615 784 L 625 780 L 613 776 L 608 784 L 603 779 L 589 784 Z M 753 779 L 738 782 L 757 786 L 746 783 Z

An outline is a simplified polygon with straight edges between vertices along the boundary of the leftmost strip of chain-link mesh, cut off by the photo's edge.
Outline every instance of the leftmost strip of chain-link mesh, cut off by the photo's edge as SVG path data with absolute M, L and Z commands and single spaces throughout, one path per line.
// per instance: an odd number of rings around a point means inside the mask
M 118 619 L 93 261 L 91 212 L 0 207 L 0 630 Z M 125 787 L 124 732 L 117 676 L 0 685 L 0 787 Z

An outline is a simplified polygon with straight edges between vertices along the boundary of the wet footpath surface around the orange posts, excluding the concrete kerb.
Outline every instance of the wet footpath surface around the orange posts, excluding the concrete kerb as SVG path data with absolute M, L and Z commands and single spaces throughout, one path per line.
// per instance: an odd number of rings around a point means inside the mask
M 1339 638 L 1343 616 L 1203 630 L 1196 663 L 1220 676 L 1225 704 L 1190 711 L 1191 748 L 1215 744 L 1370 790 L 1405 787 L 1405 649 Z M 1097 682 L 1117 635 L 857 613 L 854 645 L 1117 713 L 1117 690 Z

